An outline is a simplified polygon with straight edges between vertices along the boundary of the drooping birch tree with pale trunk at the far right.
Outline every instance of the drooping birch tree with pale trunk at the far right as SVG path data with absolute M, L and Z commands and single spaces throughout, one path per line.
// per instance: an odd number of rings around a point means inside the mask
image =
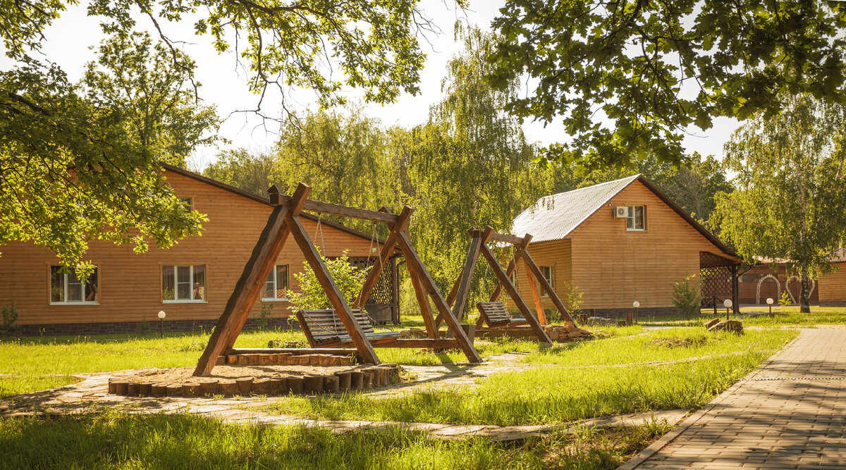
M 784 100 L 781 114 L 755 117 L 726 144 L 738 189 L 717 196 L 712 220 L 746 260 L 787 260 L 809 313 L 810 282 L 846 243 L 846 108 Z

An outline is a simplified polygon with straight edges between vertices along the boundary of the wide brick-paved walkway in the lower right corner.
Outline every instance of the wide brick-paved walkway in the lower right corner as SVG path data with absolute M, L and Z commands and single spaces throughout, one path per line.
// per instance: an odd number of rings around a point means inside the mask
M 846 331 L 802 330 L 635 467 L 846 468 Z

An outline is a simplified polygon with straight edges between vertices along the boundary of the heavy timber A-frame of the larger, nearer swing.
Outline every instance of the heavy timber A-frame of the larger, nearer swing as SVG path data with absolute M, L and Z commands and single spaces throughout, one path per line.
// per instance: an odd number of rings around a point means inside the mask
M 382 271 L 371 269 L 358 298 L 350 306 L 338 290 L 335 281 L 332 280 L 332 276 L 327 271 L 326 265 L 323 263 L 320 254 L 317 253 L 315 245 L 311 241 L 311 238 L 309 238 L 308 233 L 305 232 L 302 222 L 299 220 L 299 213 L 302 210 L 316 212 L 318 214 L 347 216 L 386 223 L 391 229 L 391 232 L 382 245 L 378 265 L 383 265 L 387 262 L 387 259 L 393 254 L 395 247 L 398 246 L 404 254 L 406 265 L 409 268 L 409 274 L 415 284 L 418 301 L 420 301 L 422 296 L 423 303 L 426 303 L 426 306 L 422 303 L 420 305 L 420 309 L 425 311 L 424 319 L 426 320 L 426 324 L 429 325 L 430 322 L 432 325 L 434 324 L 434 319 L 431 318 L 431 313 L 428 310 L 427 297 L 431 298 L 440 312 L 449 313 L 447 301 L 443 298 L 435 282 L 432 281 L 431 276 L 426 271 L 422 261 L 420 261 L 420 257 L 411 245 L 411 239 L 407 231 L 409 219 L 413 212 L 410 206 L 406 205 L 399 215 L 394 215 L 387 208 L 382 208 L 379 211 L 365 210 L 346 205 L 335 205 L 310 200 L 308 199 L 310 192 L 310 187 L 303 183 L 299 183 L 292 196 L 282 194 L 276 185 L 268 189 L 271 204 L 274 206 L 273 210 L 267 219 L 266 226 L 262 230 L 258 242 L 255 243 L 250 260 L 247 260 L 246 265 L 244 265 L 244 271 L 235 284 L 232 295 L 229 296 L 220 320 L 217 320 L 217 325 L 211 333 L 206 350 L 197 362 L 194 375 L 211 374 L 211 369 L 214 369 L 217 359 L 223 354 L 256 352 L 255 350 L 234 349 L 233 346 L 241 330 L 244 328 L 244 322 L 250 315 L 250 309 L 258 299 L 261 293 L 261 287 L 264 285 L 273 265 L 276 264 L 277 256 L 282 251 L 289 235 L 294 236 L 294 241 L 305 256 L 306 262 L 308 262 L 311 269 L 315 272 L 317 281 L 320 282 L 321 287 L 327 293 L 327 297 L 332 304 L 332 310 L 343 323 L 343 328 L 349 335 L 350 342 L 355 347 L 356 353 L 358 353 L 359 357 L 365 363 L 380 363 L 371 342 L 368 341 L 362 326 L 356 320 L 353 309 L 360 309 L 364 306 L 373 287 L 376 286 L 376 281 L 378 281 Z M 429 314 L 428 319 L 426 319 L 426 314 Z M 449 331 L 452 333 L 451 338 L 442 339 L 437 336 L 421 339 L 393 338 L 387 340 L 387 342 L 380 342 L 379 346 L 459 348 L 470 362 L 481 363 L 481 356 L 470 343 L 464 330 L 459 326 L 459 321 L 456 320 L 458 317 L 453 317 L 452 315 L 448 315 L 448 317 L 447 325 Z M 325 351 L 327 350 L 321 349 L 319 352 Z M 272 353 L 273 350 L 262 349 L 261 352 Z

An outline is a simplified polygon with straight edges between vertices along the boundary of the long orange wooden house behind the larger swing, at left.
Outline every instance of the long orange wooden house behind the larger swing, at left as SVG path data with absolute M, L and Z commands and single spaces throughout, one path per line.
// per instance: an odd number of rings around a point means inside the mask
M 33 243 L 13 242 L 0 255 L 0 305 L 14 302 L 16 335 L 126 333 L 157 328 L 159 311 L 167 331 L 211 330 L 217 323 L 244 264 L 272 211 L 269 199 L 195 172 L 162 164 L 165 178 L 186 205 L 208 217 L 201 236 L 170 249 L 135 254 L 131 245 L 94 241 L 85 260 L 96 266 L 87 282 L 59 271 L 58 258 Z M 302 213 L 305 230 L 327 258 L 344 252 L 354 265 L 372 265 L 382 240 L 342 224 Z M 318 226 L 318 221 L 319 226 Z M 305 258 L 286 243 L 268 276 L 245 328 L 255 328 L 264 308 L 270 326 L 293 318 L 288 290 Z M 365 306 L 374 320 L 399 320 L 396 256 Z

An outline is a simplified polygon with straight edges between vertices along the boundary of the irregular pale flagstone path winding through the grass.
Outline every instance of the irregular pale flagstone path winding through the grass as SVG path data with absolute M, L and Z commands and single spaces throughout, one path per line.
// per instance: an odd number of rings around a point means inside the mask
M 529 364 L 520 363 L 521 357 L 520 353 L 509 353 L 488 358 L 486 363 L 482 364 L 404 366 L 415 375 L 415 380 L 368 393 L 371 396 L 387 397 L 418 389 L 474 385 L 481 377 L 532 367 Z M 85 374 L 84 380 L 77 384 L 12 396 L 0 400 L 0 417 L 91 413 L 108 407 L 124 413 L 191 413 L 235 424 L 320 426 L 335 433 L 344 433 L 353 429 L 405 429 L 427 431 L 431 437 L 437 439 L 485 436 L 490 440 L 522 440 L 552 431 L 573 429 L 575 426 L 632 426 L 653 419 L 676 424 L 689 413 L 688 410 L 630 413 L 587 419 L 571 424 L 534 426 L 332 421 L 272 415 L 259 411 L 261 407 L 284 400 L 284 397 L 245 396 L 216 400 L 207 397 L 129 397 L 107 393 L 110 378 L 133 375 L 137 372 L 138 370 L 123 370 L 103 374 Z

